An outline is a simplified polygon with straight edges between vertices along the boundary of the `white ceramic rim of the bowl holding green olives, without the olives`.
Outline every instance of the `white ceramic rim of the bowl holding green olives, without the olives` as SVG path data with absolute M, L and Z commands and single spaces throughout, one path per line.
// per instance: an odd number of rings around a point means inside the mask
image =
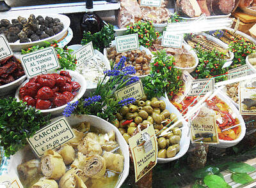
M 180 151 L 177 155 L 175 155 L 175 157 L 172 158 L 159 158 L 157 157 L 157 163 L 169 163 L 170 161 L 174 161 L 176 159 L 179 159 L 180 157 L 182 157 L 184 154 L 186 154 L 186 152 L 188 151 L 189 148 L 189 144 L 190 144 L 190 138 L 189 138 L 189 128 L 188 128 L 188 122 L 186 122 L 186 120 L 184 120 L 184 118 L 182 117 L 181 113 L 179 112 L 179 110 L 177 110 L 177 108 L 175 108 L 175 106 L 172 105 L 172 103 L 170 103 L 168 97 L 164 98 L 161 97 L 159 98 L 160 100 L 163 100 L 166 104 L 166 109 L 169 110 L 170 113 L 175 113 L 178 117 L 178 120 L 182 120 L 182 136 L 180 139 Z

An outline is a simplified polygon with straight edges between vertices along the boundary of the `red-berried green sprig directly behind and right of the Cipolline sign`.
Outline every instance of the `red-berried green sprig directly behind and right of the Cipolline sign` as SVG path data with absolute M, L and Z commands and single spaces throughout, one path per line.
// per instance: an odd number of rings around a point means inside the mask
M 155 30 L 152 22 L 135 22 L 132 25 L 127 26 L 126 34 L 138 33 L 139 43 L 143 47 L 151 47 L 153 41 L 156 40 L 160 34 Z

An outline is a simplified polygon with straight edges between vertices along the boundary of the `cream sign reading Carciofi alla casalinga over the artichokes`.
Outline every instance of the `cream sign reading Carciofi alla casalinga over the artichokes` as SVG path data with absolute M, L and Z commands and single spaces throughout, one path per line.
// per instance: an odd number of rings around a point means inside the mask
M 27 140 L 36 155 L 42 157 L 45 151 L 54 149 L 75 137 L 67 120 L 63 117 L 43 127 Z

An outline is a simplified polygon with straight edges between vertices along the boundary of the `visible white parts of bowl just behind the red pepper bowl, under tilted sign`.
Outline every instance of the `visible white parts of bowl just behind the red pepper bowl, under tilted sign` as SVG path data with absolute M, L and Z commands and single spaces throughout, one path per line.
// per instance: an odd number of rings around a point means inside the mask
M 79 50 L 80 48 L 82 48 L 83 47 L 83 45 L 71 45 L 71 46 L 69 46 L 68 48 L 69 49 L 72 49 L 72 50 L 74 50 L 74 51 L 76 51 L 76 50 Z M 108 69 L 108 70 L 110 70 L 111 69 L 111 67 L 110 67 L 110 62 L 109 62 L 109 60 L 108 60 L 108 58 L 106 57 L 106 55 L 103 55 L 101 52 L 99 52 L 98 50 L 94 50 L 94 54 L 95 55 L 98 55 L 101 59 L 102 59 L 102 61 L 104 62 L 104 64 L 105 64 L 105 67 Z M 108 79 L 109 79 L 109 77 L 108 77 Z M 85 77 L 85 80 L 86 80 L 86 77 Z M 86 89 L 86 92 L 92 92 L 93 90 L 95 90 L 96 88 L 97 88 L 97 83 L 93 83 L 93 82 L 90 82 L 90 81 L 88 81 L 88 80 L 86 80 L 86 82 L 87 82 L 87 89 Z

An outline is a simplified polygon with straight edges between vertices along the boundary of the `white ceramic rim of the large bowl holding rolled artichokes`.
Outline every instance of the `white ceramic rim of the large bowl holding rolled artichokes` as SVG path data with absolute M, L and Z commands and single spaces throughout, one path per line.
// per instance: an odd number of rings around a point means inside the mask
M 52 119 L 52 122 L 56 121 L 57 119 L 60 119 L 60 117 L 56 119 Z M 118 129 L 107 122 L 106 120 L 100 119 L 99 117 L 93 116 L 93 115 L 81 115 L 81 116 L 71 116 L 66 117 L 66 120 L 68 121 L 68 124 L 70 126 L 74 126 L 76 124 L 79 124 L 81 122 L 90 122 L 90 125 L 93 127 L 99 127 L 100 129 L 109 132 L 114 131 L 116 134 L 116 141 L 118 142 L 120 149 L 122 150 L 122 154 L 124 155 L 124 170 L 120 177 L 118 178 L 118 182 L 115 186 L 115 188 L 119 188 L 123 183 L 124 180 L 129 175 L 129 149 L 126 141 L 124 140 L 122 134 L 118 131 Z M 10 159 L 10 165 L 8 166 L 8 171 L 10 174 L 18 175 L 17 172 L 17 166 L 22 163 L 22 159 L 25 157 L 24 150 L 20 150 L 15 155 L 13 155 Z

